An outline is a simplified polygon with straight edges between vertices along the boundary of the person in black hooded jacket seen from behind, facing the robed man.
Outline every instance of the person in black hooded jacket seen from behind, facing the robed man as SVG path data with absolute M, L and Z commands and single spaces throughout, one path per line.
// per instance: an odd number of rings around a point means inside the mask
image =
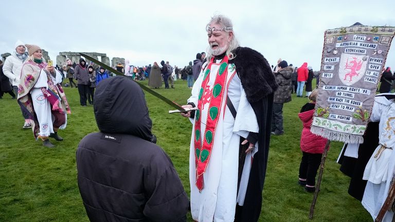
M 102 80 L 94 112 L 100 132 L 85 136 L 76 154 L 89 219 L 186 221 L 187 194 L 170 158 L 154 144 L 141 88 L 121 76 Z

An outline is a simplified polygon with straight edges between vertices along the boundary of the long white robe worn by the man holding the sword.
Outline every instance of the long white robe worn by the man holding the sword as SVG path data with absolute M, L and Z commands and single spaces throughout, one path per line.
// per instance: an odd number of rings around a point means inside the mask
M 219 69 L 218 63 L 212 64 L 208 86 L 212 88 L 215 75 Z M 203 65 L 205 67 L 205 65 Z M 206 68 L 207 69 L 207 68 Z M 197 105 L 199 90 L 202 85 L 204 71 L 201 70 L 199 78 L 193 85 L 192 96 L 188 102 Z M 203 189 L 199 192 L 196 188 L 195 172 L 195 149 L 194 149 L 194 130 L 192 130 L 189 156 L 189 180 L 191 186 L 191 214 L 194 220 L 199 222 L 211 221 L 234 221 L 236 202 L 243 205 L 245 190 L 248 183 L 250 170 L 251 154 L 247 155 L 242 181 L 237 195 L 238 164 L 239 164 L 239 144 L 240 136 L 246 138 L 249 132 L 259 132 L 257 118 L 252 106 L 248 103 L 245 91 L 241 85 L 240 78 L 236 73 L 234 65 L 229 64 L 228 76 L 223 95 L 223 106 L 216 132 L 213 138 L 213 147 L 206 172 L 203 175 Z M 236 119 L 232 116 L 229 108 L 225 105 L 226 95 L 229 96 L 232 104 L 237 110 Z M 201 132 L 205 132 L 205 123 L 208 115 L 208 104 L 203 107 L 201 112 Z M 191 119 L 194 129 L 194 119 Z M 204 135 L 200 137 L 204 138 Z M 255 154 L 258 150 L 254 150 Z

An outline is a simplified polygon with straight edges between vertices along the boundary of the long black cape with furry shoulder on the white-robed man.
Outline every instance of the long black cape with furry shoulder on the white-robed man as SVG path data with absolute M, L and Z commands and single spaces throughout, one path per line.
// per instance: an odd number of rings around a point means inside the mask
M 256 135 L 259 147 L 249 175 L 244 205 L 238 206 L 235 221 L 258 221 L 262 208 L 262 190 L 270 145 L 273 98 L 277 89 L 276 78 L 263 55 L 253 49 L 238 47 L 236 57 L 229 61 L 236 66 L 237 74 L 254 109 L 259 125 Z M 250 141 L 251 142 L 251 141 Z

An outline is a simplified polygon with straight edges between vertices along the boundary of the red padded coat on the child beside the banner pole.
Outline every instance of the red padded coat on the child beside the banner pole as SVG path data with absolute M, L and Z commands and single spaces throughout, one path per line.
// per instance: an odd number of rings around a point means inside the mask
M 299 119 L 303 123 L 302 135 L 300 137 L 300 150 L 311 154 L 322 154 L 324 153 L 328 139 L 310 132 L 313 122 L 314 106 L 315 103 L 307 103 L 298 114 Z

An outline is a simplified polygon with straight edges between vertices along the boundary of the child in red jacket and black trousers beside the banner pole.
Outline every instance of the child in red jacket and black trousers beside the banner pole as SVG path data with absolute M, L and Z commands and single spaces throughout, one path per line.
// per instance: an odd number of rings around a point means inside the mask
M 314 89 L 309 96 L 310 102 L 302 106 L 300 114 L 298 114 L 303 123 L 302 135 L 300 137 L 302 160 L 299 167 L 299 184 L 307 192 L 311 193 L 315 191 L 315 176 L 317 175 L 322 153 L 324 153 L 325 145 L 328 141 L 328 139 L 310 132 L 317 93 L 318 90 Z

